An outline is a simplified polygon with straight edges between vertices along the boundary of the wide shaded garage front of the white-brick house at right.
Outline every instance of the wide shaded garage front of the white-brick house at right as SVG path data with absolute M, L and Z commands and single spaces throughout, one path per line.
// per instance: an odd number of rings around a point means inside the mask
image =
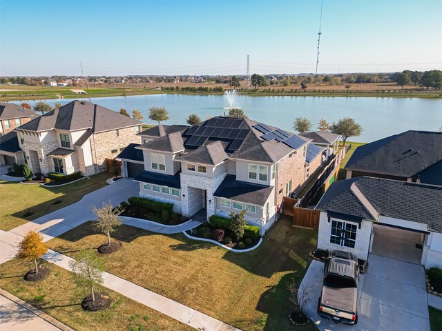
M 372 254 L 421 264 L 425 232 L 391 225 L 373 224 Z

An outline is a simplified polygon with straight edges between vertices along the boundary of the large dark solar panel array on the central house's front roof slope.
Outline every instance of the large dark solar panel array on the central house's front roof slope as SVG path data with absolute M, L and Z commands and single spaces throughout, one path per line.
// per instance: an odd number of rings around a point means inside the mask
M 217 117 L 209 119 L 203 126 L 192 126 L 184 132 L 184 137 L 188 138 L 184 145 L 189 148 L 198 148 L 207 140 L 213 139 L 229 142 L 227 149 L 232 152 L 238 150 L 249 134 L 249 129 L 240 129 L 242 121 L 242 119 Z

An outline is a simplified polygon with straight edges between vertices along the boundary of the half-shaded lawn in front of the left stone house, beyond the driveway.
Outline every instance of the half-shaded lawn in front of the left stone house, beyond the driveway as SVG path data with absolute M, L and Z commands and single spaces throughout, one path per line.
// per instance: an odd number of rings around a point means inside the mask
M 111 174 L 104 172 L 58 188 L 0 181 L 0 229 L 11 230 L 75 203 L 85 194 L 106 186 L 106 179 L 111 177 Z M 26 208 L 32 212 L 29 217 L 23 215 Z

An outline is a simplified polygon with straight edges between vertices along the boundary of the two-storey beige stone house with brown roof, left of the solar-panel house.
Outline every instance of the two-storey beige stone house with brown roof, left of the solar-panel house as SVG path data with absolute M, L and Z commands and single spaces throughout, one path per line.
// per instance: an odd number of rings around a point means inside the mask
M 15 129 L 33 173 L 106 170 L 129 143 L 139 141 L 142 123 L 87 101 L 72 101 Z

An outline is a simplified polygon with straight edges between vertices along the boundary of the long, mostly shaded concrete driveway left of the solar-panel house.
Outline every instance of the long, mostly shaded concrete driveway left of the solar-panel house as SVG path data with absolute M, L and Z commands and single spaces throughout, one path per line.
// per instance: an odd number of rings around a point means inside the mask
M 83 179 L 87 181 L 88 179 Z M 18 243 L 29 230 L 38 230 L 48 241 L 94 218 L 91 207 L 111 201 L 114 205 L 126 201 L 129 197 L 137 197 L 140 185 L 132 179 L 120 179 L 112 185 L 107 185 L 86 194 L 80 201 L 65 208 L 46 214 L 34 221 L 20 225 L 10 231 L 0 230 L 0 264 L 15 257 L 16 248 L 11 243 Z

